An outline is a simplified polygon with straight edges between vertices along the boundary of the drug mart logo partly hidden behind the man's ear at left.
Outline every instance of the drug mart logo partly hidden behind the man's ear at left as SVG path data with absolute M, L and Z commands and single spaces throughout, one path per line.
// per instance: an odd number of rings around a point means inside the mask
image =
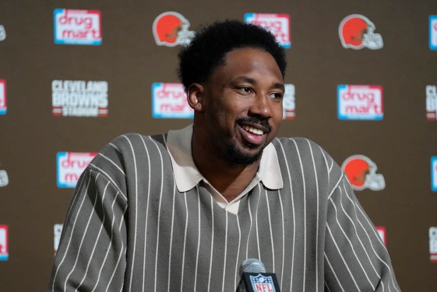
M 186 118 L 194 116 L 181 83 L 155 82 L 151 85 L 154 118 Z

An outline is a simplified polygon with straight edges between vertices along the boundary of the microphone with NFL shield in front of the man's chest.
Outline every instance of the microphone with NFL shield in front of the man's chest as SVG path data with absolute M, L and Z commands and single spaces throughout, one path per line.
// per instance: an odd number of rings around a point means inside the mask
M 276 275 L 266 273 L 258 259 L 244 260 L 240 266 L 241 280 L 236 292 L 280 292 Z

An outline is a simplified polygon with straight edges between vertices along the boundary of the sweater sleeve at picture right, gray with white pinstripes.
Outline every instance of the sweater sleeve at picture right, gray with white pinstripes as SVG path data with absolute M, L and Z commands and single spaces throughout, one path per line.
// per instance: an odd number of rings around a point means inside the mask
M 324 270 L 327 291 L 400 291 L 387 249 L 342 172 L 327 201 Z

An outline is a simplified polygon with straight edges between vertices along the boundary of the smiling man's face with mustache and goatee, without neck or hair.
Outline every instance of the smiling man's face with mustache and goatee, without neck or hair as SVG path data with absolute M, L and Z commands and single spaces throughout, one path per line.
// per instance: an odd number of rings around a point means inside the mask
M 234 49 L 224 61 L 203 84 L 206 135 L 219 157 L 249 165 L 279 129 L 284 80 L 261 49 Z

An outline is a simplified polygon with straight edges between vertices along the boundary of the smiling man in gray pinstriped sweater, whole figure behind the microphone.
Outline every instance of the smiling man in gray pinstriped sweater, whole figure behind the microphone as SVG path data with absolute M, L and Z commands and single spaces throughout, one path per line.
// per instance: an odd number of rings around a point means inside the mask
M 247 258 L 282 291 L 399 291 L 338 165 L 311 141 L 275 138 L 286 60 L 274 36 L 218 22 L 179 58 L 194 125 L 103 148 L 48 291 L 235 291 Z

